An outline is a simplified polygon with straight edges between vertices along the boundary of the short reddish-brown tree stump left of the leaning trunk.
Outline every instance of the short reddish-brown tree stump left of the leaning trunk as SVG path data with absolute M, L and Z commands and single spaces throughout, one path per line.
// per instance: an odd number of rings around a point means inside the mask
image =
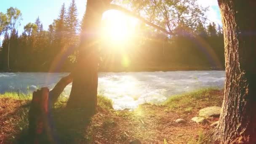
M 49 131 L 48 125 L 48 97 L 49 89 L 41 88 L 33 92 L 33 98 L 29 108 L 29 139 L 33 144 L 45 141 Z

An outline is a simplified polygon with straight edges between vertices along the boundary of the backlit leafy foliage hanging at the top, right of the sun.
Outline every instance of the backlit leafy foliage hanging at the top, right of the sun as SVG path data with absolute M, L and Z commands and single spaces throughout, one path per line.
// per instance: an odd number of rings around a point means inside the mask
M 130 3 L 117 0 L 115 3 L 131 5 L 135 13 L 143 13 L 148 21 L 173 32 L 179 26 L 195 29 L 198 24 L 205 23 L 208 11 L 208 7 L 198 5 L 197 0 L 131 0 Z

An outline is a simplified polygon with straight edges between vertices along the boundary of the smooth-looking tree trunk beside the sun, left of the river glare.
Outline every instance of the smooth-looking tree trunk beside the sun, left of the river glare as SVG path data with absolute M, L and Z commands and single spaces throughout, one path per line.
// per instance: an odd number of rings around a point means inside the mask
M 79 55 L 72 71 L 73 83 L 67 103 L 67 107 L 85 108 L 90 114 L 95 112 L 97 105 L 99 32 L 105 1 L 87 0 Z

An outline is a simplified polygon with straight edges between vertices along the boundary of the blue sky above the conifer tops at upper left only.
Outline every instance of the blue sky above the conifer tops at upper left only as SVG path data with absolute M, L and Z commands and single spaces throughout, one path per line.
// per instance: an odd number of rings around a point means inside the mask
M 48 29 L 48 25 L 53 19 L 58 18 L 61 5 L 65 3 L 66 9 L 72 0 L 0 0 L 0 11 L 6 13 L 7 8 L 16 7 L 21 10 L 22 18 L 19 33 L 23 31 L 24 25 L 35 22 L 37 16 L 43 22 L 43 28 Z M 78 10 L 78 18 L 82 19 L 85 12 L 85 0 L 75 0 Z

